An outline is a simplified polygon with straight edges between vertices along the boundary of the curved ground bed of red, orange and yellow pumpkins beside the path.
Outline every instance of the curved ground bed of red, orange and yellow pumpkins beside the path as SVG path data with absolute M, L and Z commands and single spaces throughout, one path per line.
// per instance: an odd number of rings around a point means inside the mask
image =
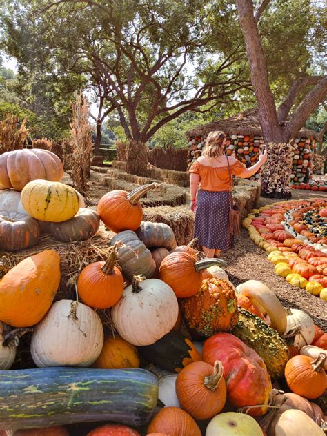
M 288 283 L 327 301 L 326 199 L 282 201 L 252 210 L 243 221 Z M 326 220 L 326 221 L 325 221 Z

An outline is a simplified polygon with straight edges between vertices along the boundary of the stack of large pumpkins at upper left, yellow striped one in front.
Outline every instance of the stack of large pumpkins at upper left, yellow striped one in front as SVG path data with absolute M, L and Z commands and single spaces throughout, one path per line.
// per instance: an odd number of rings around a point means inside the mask
M 57 241 L 83 241 L 99 229 L 99 215 L 62 184 L 63 164 L 48 150 L 0 155 L 0 250 L 31 248 L 41 233 Z

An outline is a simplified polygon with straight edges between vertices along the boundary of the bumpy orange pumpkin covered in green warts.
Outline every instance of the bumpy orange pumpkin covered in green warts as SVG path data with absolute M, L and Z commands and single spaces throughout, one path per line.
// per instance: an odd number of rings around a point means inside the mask
M 209 337 L 237 324 L 235 290 L 223 279 L 204 280 L 195 295 L 181 301 L 181 307 L 191 334 Z

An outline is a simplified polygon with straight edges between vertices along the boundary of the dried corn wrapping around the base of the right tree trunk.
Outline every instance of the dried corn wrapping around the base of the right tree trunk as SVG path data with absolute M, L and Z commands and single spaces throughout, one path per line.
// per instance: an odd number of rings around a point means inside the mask
M 268 159 L 261 167 L 261 195 L 271 198 L 289 198 L 290 175 L 294 147 L 290 143 L 268 143 Z

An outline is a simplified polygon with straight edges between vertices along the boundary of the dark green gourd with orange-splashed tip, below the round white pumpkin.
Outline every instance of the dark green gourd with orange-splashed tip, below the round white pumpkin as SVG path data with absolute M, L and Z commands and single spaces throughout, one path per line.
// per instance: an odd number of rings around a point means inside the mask
M 155 344 L 137 347 L 137 350 L 149 363 L 176 373 L 180 373 L 193 361 L 201 360 L 201 355 L 190 339 L 175 331 L 171 331 Z

